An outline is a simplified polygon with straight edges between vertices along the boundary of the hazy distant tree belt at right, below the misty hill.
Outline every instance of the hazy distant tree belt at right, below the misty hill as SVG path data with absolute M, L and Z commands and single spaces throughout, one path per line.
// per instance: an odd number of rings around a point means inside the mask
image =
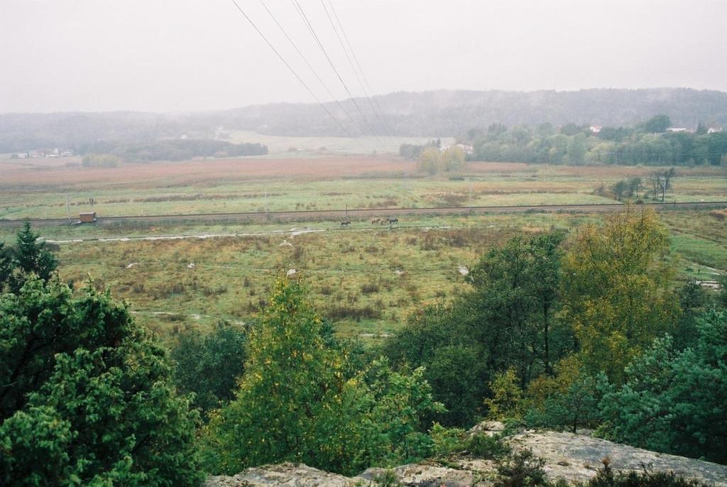
M 461 137 L 473 145 L 476 161 L 511 161 L 550 164 L 646 164 L 693 166 L 727 164 L 727 132 L 666 132 L 671 121 L 655 116 L 633 127 L 567 124 L 555 128 L 491 124 L 470 129 Z

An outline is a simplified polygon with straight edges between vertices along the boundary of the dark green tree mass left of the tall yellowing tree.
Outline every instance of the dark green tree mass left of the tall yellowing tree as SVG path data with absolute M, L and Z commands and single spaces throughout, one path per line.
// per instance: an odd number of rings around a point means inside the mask
M 467 426 L 481 414 L 487 386 L 511 367 L 524 387 L 569 351 L 571 332 L 555 319 L 561 280 L 559 234 L 515 238 L 492 249 L 468 276 L 472 290 L 447 306 L 427 307 L 385 345 L 398 366 L 425 367 L 435 416 Z

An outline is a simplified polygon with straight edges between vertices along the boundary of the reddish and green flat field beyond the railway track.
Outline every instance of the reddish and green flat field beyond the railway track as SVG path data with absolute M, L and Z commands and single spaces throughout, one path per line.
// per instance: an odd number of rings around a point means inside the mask
M 89 198 L 100 216 L 615 203 L 599 196 L 598 188 L 627 177 L 646 180 L 655 169 L 470 163 L 462 174 L 422 177 L 413 162 L 393 156 L 215 159 L 113 169 L 35 161 L 0 161 L 0 218 L 77 217 L 92 209 Z M 717 201 L 726 194 L 725 168 L 680 168 L 667 201 Z

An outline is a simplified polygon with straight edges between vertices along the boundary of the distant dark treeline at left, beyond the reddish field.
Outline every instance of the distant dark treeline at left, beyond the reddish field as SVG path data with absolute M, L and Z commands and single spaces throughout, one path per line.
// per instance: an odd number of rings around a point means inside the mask
M 108 156 L 127 162 L 184 161 L 193 157 L 262 156 L 268 153 L 268 147 L 223 140 L 156 140 L 142 143 L 97 142 L 79 145 L 76 151 L 84 156 L 84 166 L 113 167 L 114 164 L 104 164 Z M 104 156 L 104 162 L 96 162 Z

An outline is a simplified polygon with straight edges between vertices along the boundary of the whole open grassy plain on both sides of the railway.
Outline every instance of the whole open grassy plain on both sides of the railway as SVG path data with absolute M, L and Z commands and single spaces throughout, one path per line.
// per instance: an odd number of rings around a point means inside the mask
M 0 162 L 0 217 L 264 212 L 298 209 L 616 203 L 598 191 L 653 167 L 470 163 L 462 174 L 424 177 L 393 156 L 238 158 L 87 169 L 60 159 Z M 48 163 L 46 162 L 48 161 Z M 68 161 L 67 161 L 68 162 Z M 77 162 L 77 161 L 76 161 Z M 727 171 L 680 168 L 667 201 L 726 199 Z M 68 197 L 68 205 L 66 198 Z M 56 241 L 60 277 L 76 289 L 91 275 L 130 303 L 142 323 L 172 337 L 221 319 L 257 315 L 276 273 L 296 270 L 346 337 L 377 339 L 410 313 L 466 289 L 483 252 L 520 233 L 570 232 L 598 214 L 403 217 L 392 227 L 338 221 L 193 221 L 39 228 Z M 715 280 L 727 270 L 719 211 L 661 214 L 679 278 Z M 0 240 L 13 230 L 0 229 Z M 142 238 L 153 239 L 142 239 Z M 187 238 L 183 238 L 187 237 Z M 106 241 L 74 241 L 101 238 Z

